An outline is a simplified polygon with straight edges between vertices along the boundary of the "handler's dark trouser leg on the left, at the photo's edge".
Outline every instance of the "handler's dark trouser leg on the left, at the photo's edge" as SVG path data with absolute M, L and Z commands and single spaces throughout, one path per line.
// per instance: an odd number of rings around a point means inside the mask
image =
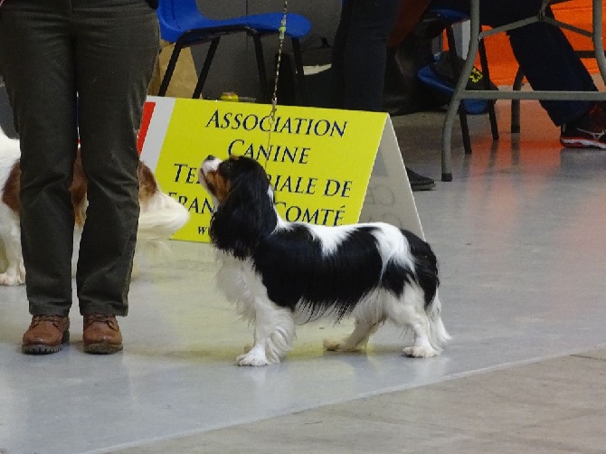
M 0 9 L 0 64 L 21 139 L 22 247 L 34 316 L 67 316 L 71 307 L 77 131 L 68 5 L 24 0 Z

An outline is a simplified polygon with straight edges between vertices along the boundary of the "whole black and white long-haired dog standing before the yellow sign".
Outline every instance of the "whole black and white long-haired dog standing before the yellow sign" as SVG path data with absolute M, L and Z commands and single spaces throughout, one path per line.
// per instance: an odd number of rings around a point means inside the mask
M 354 332 L 327 350 L 365 348 L 385 320 L 412 329 L 405 355 L 439 355 L 450 336 L 440 318 L 436 257 L 412 232 L 383 222 L 326 227 L 286 222 L 260 164 L 208 156 L 200 183 L 215 211 L 210 238 L 218 285 L 254 324 L 254 345 L 240 365 L 279 363 L 295 325 L 319 317 L 355 318 Z

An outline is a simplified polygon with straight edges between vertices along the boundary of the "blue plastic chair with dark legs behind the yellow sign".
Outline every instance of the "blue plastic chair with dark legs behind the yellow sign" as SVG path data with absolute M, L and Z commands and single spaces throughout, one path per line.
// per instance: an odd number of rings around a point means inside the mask
M 252 37 L 254 42 L 260 79 L 261 100 L 263 102 L 270 102 L 270 90 L 265 71 L 261 38 L 279 33 L 282 13 L 250 14 L 230 19 L 213 20 L 205 17 L 200 12 L 196 0 L 160 0 L 156 12 L 160 23 L 162 39 L 169 43 L 175 43 L 175 49 L 168 61 L 158 96 L 166 95 L 168 84 L 173 77 L 176 61 L 182 49 L 202 43 L 211 43 L 192 96 L 192 98 L 200 98 L 221 37 L 232 33 L 246 33 Z M 311 30 L 311 24 L 306 17 L 299 14 L 287 14 L 286 35 L 289 36 L 292 42 L 301 104 L 306 103 L 307 96 L 305 93 L 303 61 L 301 59 L 299 38 L 308 34 L 309 30 Z

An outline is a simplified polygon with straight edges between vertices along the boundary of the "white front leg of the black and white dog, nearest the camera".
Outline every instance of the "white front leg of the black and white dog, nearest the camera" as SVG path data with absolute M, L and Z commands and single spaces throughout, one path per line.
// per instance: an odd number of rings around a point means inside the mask
M 270 300 L 255 301 L 254 345 L 238 356 L 238 365 L 279 363 L 290 350 L 295 338 L 295 321 L 290 309 L 278 307 Z

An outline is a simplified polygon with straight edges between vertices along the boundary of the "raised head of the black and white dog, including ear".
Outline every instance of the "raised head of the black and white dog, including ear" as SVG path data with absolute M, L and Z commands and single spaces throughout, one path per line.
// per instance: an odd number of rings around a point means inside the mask
M 246 156 L 231 156 L 224 161 L 208 156 L 199 177 L 215 203 L 211 241 L 238 259 L 250 257 L 278 222 L 273 189 L 265 170 Z

